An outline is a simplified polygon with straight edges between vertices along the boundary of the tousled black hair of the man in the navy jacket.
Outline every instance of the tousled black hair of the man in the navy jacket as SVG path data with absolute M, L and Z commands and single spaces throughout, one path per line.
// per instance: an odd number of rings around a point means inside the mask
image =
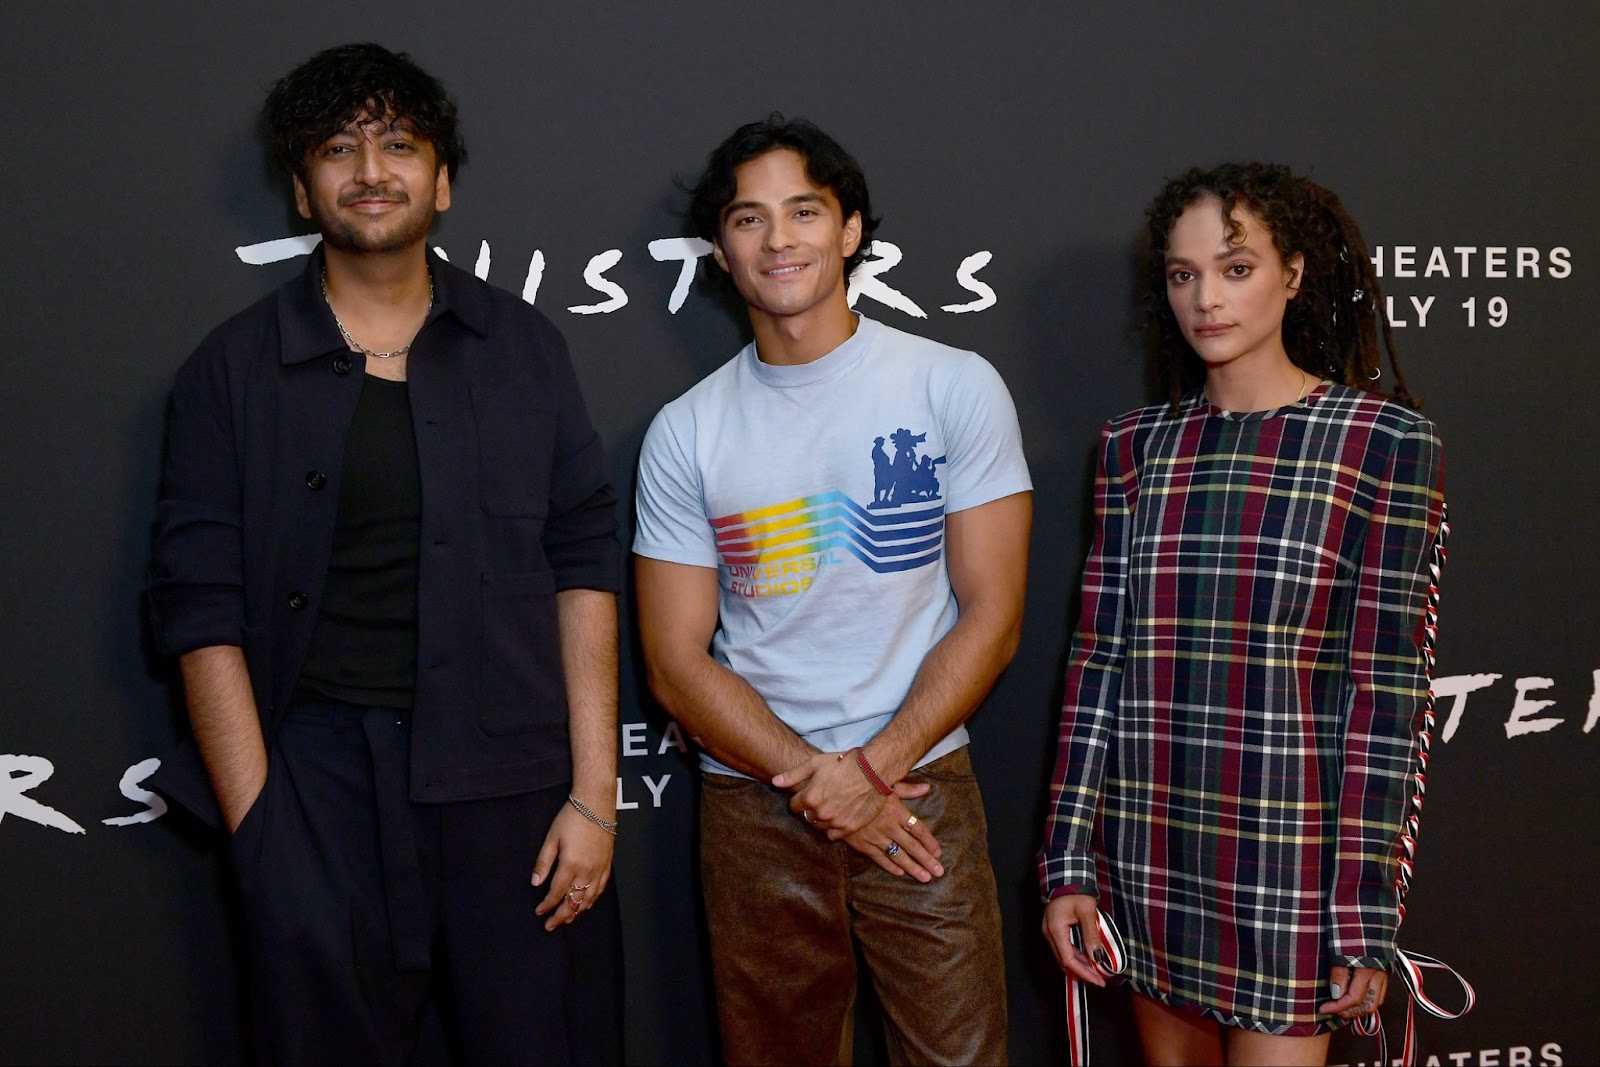
M 381 45 L 326 48 L 285 74 L 262 106 L 277 162 L 306 181 L 306 155 L 360 115 L 406 120 L 434 144 L 450 178 L 467 162 L 456 106 L 445 86 L 411 61 Z

